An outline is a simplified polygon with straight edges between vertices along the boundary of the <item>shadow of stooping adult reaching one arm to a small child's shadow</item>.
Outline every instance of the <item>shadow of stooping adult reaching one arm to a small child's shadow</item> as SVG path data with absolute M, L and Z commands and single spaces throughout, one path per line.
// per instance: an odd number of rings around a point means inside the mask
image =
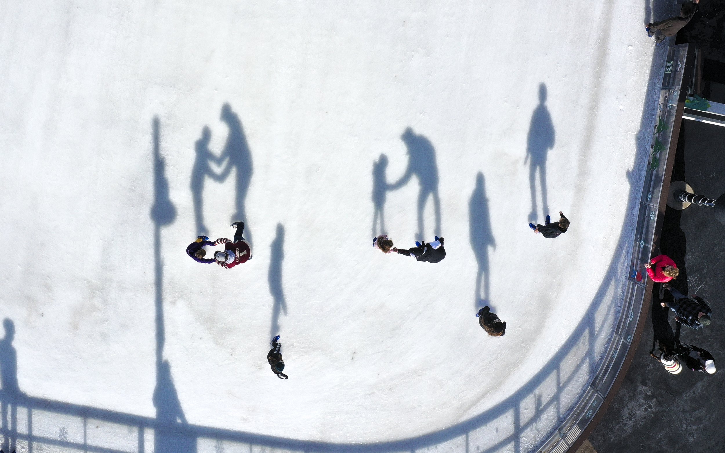
M 423 211 L 426 208 L 428 196 L 433 196 L 433 207 L 436 215 L 435 236 L 441 236 L 441 200 L 438 197 L 438 165 L 436 165 L 436 150 L 428 138 L 416 135 L 413 129 L 406 128 L 400 136 L 407 147 L 408 166 L 402 177 L 389 186 L 394 191 L 410 181 L 415 175 L 421 191 L 418 193 L 418 235 L 416 241 L 423 242 Z

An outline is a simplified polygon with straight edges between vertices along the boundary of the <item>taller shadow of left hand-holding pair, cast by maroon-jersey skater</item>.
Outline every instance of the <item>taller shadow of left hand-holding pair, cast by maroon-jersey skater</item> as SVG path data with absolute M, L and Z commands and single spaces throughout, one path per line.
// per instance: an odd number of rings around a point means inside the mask
M 231 170 L 236 170 L 236 199 L 234 201 L 236 212 L 231 216 L 230 221 L 247 223 L 244 228 L 244 238 L 249 244 L 252 244 L 252 233 L 249 230 L 247 212 L 244 209 L 249 183 L 252 181 L 252 152 L 249 151 L 247 136 L 244 135 L 239 115 L 232 111 L 229 104 L 223 105 L 221 120 L 226 123 L 229 132 L 224 149 L 219 157 L 222 162 L 228 159 L 226 167 L 220 174 L 220 179 L 225 180 Z

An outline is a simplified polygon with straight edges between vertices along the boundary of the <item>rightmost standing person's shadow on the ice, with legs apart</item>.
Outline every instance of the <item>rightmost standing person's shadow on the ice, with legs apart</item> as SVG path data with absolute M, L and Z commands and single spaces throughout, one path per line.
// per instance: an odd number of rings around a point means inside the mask
M 537 170 L 539 171 L 539 183 L 542 188 L 542 207 L 544 216 L 549 214 L 549 205 L 546 200 L 546 159 L 547 153 L 554 147 L 555 132 L 554 124 L 551 121 L 549 109 L 546 107 L 547 90 L 546 85 L 539 85 L 539 105 L 531 115 L 529 136 L 526 139 L 526 158 L 523 163 L 529 160 L 529 186 L 531 188 L 531 213 L 529 222 L 537 220 Z

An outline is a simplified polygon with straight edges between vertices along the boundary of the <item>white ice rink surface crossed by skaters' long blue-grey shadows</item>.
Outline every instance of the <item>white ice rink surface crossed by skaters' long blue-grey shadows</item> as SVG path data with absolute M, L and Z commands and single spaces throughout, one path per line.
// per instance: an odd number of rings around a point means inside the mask
M 646 4 L 146 3 L 0 3 L 3 386 L 14 351 L 28 396 L 159 423 L 534 449 L 618 315 Z M 186 256 L 232 220 L 251 261 Z

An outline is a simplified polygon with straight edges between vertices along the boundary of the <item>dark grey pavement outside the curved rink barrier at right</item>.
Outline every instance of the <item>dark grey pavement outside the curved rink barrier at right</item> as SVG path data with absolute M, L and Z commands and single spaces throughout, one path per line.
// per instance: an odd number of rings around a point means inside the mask
M 686 180 L 697 194 L 725 193 L 725 128 L 683 120 L 672 180 Z M 680 268 L 673 286 L 703 297 L 713 323 L 694 331 L 682 326 L 680 341 L 708 350 L 717 373 L 683 369 L 667 373 L 650 357 L 655 320 L 674 314 L 659 307 L 655 283 L 653 307 L 624 383 L 589 441 L 598 453 L 725 452 L 725 226 L 713 208 L 667 208 L 660 250 Z M 668 293 L 665 297 L 670 297 Z

